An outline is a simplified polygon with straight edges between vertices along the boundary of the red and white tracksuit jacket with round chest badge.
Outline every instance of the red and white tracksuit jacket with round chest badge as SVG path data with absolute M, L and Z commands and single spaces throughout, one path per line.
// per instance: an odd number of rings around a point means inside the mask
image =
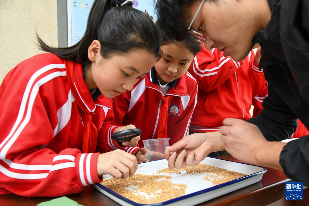
M 187 135 L 196 101 L 197 82 L 188 72 L 165 95 L 152 81 L 150 72 L 134 85 L 133 90 L 113 98 L 115 122 L 110 123 L 134 124 L 140 128 L 140 147 L 143 147 L 142 140 L 166 137 L 171 138 L 172 145 Z M 126 151 L 135 154 L 138 146 Z

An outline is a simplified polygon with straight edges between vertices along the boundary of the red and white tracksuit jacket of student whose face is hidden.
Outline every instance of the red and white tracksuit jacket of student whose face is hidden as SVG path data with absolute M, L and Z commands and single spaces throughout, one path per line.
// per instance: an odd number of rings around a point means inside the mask
M 190 131 L 214 132 L 225 118 L 251 118 L 252 97 L 259 94 L 266 82 L 254 57 L 250 51 L 243 61 L 236 62 L 216 48 L 209 51 L 202 45 L 188 70 L 198 83 Z

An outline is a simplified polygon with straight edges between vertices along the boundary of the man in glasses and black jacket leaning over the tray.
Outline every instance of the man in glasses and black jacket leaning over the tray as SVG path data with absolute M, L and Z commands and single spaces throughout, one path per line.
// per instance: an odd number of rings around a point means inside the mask
M 240 61 L 255 44 L 268 82 L 264 109 L 247 122 L 225 119 L 220 132 L 196 133 L 167 147 L 171 169 L 195 166 L 226 149 L 250 164 L 283 170 L 309 186 L 309 136 L 288 143 L 299 118 L 309 128 L 308 0 L 157 0 L 158 23 L 179 40 L 190 32 L 207 49 Z

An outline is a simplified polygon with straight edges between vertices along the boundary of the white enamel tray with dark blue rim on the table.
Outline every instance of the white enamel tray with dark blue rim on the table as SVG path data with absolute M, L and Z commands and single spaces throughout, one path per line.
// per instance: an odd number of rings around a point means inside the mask
M 177 205 L 177 206 L 196 205 L 211 200 L 213 198 L 216 198 L 218 196 L 225 195 L 226 193 L 246 187 L 248 185 L 257 183 L 262 179 L 263 173 L 267 171 L 264 167 L 248 165 L 238 162 L 231 162 L 211 157 L 206 157 L 201 163 L 216 166 L 226 170 L 232 170 L 235 172 L 244 173 L 247 174 L 247 176 L 220 185 L 213 186 L 211 182 L 203 179 L 206 173 L 199 173 L 198 175 L 186 174 L 185 172 L 182 172 L 181 174 L 158 173 L 156 175 L 172 176 L 173 177 L 171 179 L 172 183 L 176 184 L 182 183 L 187 185 L 188 187 L 185 190 L 186 192 L 184 196 L 151 205 Z M 145 165 L 145 166 L 138 168 L 136 173 L 148 174 L 148 175 L 151 175 L 158 170 L 162 170 L 168 167 L 167 160 L 165 159 L 153 162 L 144 162 L 140 163 L 139 165 Z M 107 187 L 104 187 L 99 183 L 94 184 L 94 187 L 100 192 L 102 192 L 104 195 L 108 196 L 109 198 L 111 198 L 112 200 L 116 201 L 121 205 L 137 205 L 137 206 L 145 205 L 133 202 L 119 195 L 118 193 L 108 189 Z

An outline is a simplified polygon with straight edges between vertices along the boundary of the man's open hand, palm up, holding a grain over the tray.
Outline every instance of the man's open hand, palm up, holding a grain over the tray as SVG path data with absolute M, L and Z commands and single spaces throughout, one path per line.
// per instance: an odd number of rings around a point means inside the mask
M 210 152 L 222 150 L 220 132 L 194 133 L 165 149 L 170 169 L 197 166 Z

